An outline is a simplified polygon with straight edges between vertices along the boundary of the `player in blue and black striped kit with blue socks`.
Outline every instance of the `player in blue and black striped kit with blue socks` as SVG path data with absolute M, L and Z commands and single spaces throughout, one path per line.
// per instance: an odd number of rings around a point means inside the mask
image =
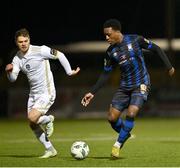
M 108 120 L 112 128 L 119 134 L 112 147 L 111 156 L 118 158 L 120 149 L 131 136 L 134 119 L 147 101 L 150 90 L 150 78 L 145 65 L 142 49 L 154 52 L 165 63 L 168 73 L 175 72 L 168 57 L 163 50 L 152 41 L 136 34 L 122 34 L 121 24 L 117 19 L 109 19 L 103 25 L 104 35 L 110 44 L 104 58 L 104 71 L 89 93 L 82 98 L 82 105 L 87 106 L 95 93 L 108 80 L 110 72 L 119 66 L 121 80 L 119 88 L 112 98 Z M 127 109 L 125 120 L 121 118 L 122 112 Z

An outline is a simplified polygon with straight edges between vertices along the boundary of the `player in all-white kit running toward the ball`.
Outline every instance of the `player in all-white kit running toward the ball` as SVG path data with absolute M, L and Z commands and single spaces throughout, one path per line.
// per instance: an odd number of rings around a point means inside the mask
M 46 115 L 56 97 L 49 59 L 58 59 L 69 76 L 76 75 L 80 68 L 72 70 L 65 55 L 56 49 L 45 45 L 31 45 L 29 32 L 25 28 L 15 33 L 15 43 L 19 51 L 15 54 L 12 63 L 6 65 L 7 77 L 14 82 L 20 71 L 26 74 L 30 85 L 27 107 L 30 128 L 46 149 L 40 158 L 54 157 L 57 151 L 48 139 L 54 130 L 54 116 Z

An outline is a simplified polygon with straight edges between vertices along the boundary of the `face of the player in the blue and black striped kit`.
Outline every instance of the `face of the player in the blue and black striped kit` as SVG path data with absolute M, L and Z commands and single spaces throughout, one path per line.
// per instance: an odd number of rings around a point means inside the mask
M 104 35 L 109 44 L 120 43 L 120 31 L 113 30 L 112 27 L 104 28 Z

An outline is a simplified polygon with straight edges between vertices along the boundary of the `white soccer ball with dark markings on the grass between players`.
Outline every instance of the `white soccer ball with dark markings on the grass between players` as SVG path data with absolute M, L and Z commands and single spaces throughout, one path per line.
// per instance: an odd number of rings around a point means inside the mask
M 89 146 L 84 141 L 75 141 L 71 146 L 71 155 L 77 160 L 85 159 L 89 154 Z

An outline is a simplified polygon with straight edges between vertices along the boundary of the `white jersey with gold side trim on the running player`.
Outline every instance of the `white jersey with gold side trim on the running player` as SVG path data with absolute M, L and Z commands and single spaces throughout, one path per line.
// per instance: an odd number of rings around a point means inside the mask
M 13 71 L 16 77 L 19 71 L 27 75 L 30 85 L 30 95 L 55 93 L 53 74 L 49 59 L 58 59 L 53 49 L 47 46 L 30 45 L 28 52 L 22 56 L 17 52 L 13 58 Z M 16 80 L 16 79 L 15 79 Z

